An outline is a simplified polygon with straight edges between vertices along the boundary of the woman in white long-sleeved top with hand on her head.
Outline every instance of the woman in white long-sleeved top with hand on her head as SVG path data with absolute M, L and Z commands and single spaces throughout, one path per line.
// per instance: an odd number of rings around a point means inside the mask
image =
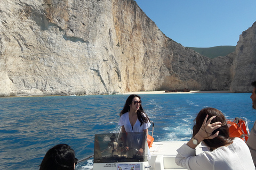
M 230 138 L 225 116 L 215 108 L 204 108 L 193 127 L 193 138 L 177 151 L 175 163 L 186 169 L 255 169 L 250 150 L 240 138 Z M 196 155 L 203 142 L 209 148 Z

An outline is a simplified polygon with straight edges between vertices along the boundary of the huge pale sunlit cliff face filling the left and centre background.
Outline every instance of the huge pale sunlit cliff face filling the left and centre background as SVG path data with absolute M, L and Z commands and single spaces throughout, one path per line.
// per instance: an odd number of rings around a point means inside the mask
M 227 90 L 239 79 L 237 50 L 210 60 L 133 0 L 2 0 L 0 20 L 0 96 Z

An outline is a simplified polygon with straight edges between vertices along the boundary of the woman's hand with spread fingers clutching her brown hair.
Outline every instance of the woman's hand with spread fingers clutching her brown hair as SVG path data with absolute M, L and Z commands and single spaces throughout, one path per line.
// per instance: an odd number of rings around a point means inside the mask
M 198 143 L 201 142 L 204 139 L 213 139 L 215 137 L 218 137 L 219 131 L 216 133 L 212 134 L 212 132 L 218 128 L 221 127 L 221 122 L 214 122 L 211 124 L 211 121 L 213 118 L 216 116 L 212 116 L 209 118 L 209 120 L 206 122 L 208 115 L 205 116 L 204 122 L 200 128 L 200 130 L 197 132 L 195 135 L 195 139 L 198 140 Z

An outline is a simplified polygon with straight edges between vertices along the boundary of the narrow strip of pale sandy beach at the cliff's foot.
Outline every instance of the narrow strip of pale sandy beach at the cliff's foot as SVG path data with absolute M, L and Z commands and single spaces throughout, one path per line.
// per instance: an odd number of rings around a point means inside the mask
M 161 91 L 133 91 L 133 92 L 126 92 L 124 95 L 146 95 L 146 94 L 223 94 L 223 93 L 230 93 L 230 90 L 212 90 L 212 91 L 199 91 L 199 90 L 190 90 L 189 92 L 165 92 L 164 90 Z

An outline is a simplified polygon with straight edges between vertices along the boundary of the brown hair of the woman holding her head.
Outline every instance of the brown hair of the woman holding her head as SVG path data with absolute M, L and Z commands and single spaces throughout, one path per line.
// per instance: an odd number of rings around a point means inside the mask
M 222 124 L 221 124 L 220 128 L 218 128 L 218 129 L 216 129 L 212 132 L 212 134 L 215 134 L 217 131 L 219 131 L 218 137 L 216 137 L 214 139 L 205 139 L 205 140 L 203 140 L 205 145 L 210 147 L 210 150 L 212 151 L 212 150 L 217 149 L 221 146 L 225 146 L 225 145 L 228 145 L 228 144 L 232 143 L 234 138 L 229 137 L 229 129 L 228 129 L 228 125 L 227 125 L 227 121 L 226 121 L 225 116 L 218 109 L 211 108 L 211 107 L 204 108 L 197 114 L 197 116 L 194 120 L 195 125 L 193 127 L 193 137 L 200 130 L 206 115 L 208 115 L 207 121 L 212 116 L 216 116 L 215 118 L 213 118 L 211 123 L 221 122 Z

